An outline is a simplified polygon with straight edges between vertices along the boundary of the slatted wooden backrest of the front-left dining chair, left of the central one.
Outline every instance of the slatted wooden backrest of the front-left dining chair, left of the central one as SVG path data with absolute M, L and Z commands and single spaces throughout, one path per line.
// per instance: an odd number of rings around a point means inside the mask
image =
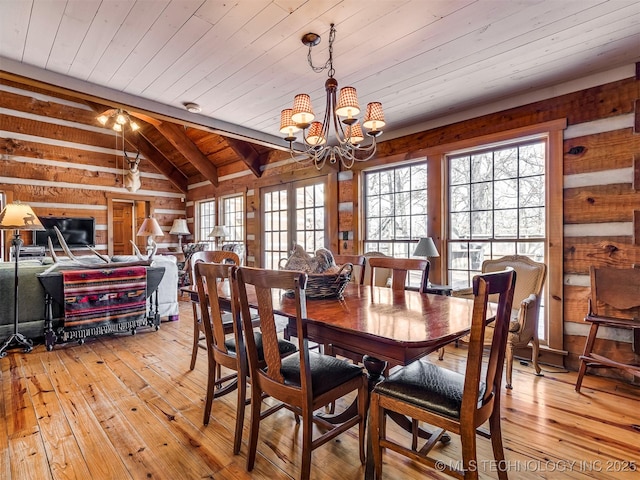
M 196 262 L 194 265 L 195 281 L 198 288 L 198 299 L 207 348 L 223 355 L 230 355 L 225 346 L 225 328 L 222 312 L 218 302 L 218 282 L 231 277 L 236 268 L 233 264 Z M 237 297 L 231 292 L 231 310 L 233 316 L 233 334 L 236 351 L 240 360 L 244 360 L 245 348 L 238 315 Z M 235 355 L 236 353 L 233 353 Z M 245 364 L 241 361 L 239 365 Z

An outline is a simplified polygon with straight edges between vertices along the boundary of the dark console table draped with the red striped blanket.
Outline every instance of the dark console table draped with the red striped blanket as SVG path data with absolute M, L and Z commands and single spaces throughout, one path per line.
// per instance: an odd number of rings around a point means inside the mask
M 104 268 L 119 268 L 117 264 L 111 267 Z M 77 268 L 76 268 L 77 270 Z M 164 267 L 147 267 L 147 291 L 146 298 L 151 298 L 150 306 L 148 308 L 146 318 L 144 322 L 137 326 L 153 326 L 155 330 L 160 328 L 160 314 L 158 313 L 158 285 L 164 276 Z M 64 330 L 64 286 L 63 277 L 60 271 L 45 273 L 38 275 L 40 283 L 45 290 L 45 345 L 48 351 L 53 350 L 53 346 L 56 343 L 65 343 L 69 341 L 68 335 Z M 58 310 L 62 312 L 58 317 L 62 320 L 62 326 L 54 328 L 53 323 L 56 317 L 54 316 L 54 303 L 58 307 Z M 114 333 L 114 332 L 110 332 Z M 131 333 L 135 335 L 136 328 L 131 328 Z M 89 336 L 89 335 L 86 335 Z M 79 343 L 84 342 L 84 336 L 78 337 L 77 332 L 74 339 L 77 339 Z

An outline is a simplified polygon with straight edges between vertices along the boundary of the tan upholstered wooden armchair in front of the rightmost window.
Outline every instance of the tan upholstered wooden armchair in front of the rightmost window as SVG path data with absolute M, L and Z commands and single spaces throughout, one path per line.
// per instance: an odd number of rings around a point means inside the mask
M 513 354 L 516 348 L 532 346 L 531 361 L 536 375 L 541 376 L 538 356 L 540 342 L 538 340 L 538 318 L 540 317 L 540 302 L 542 288 L 547 276 L 547 266 L 534 262 L 523 255 L 507 255 L 505 257 L 485 260 L 482 272 L 497 272 L 510 267 L 516 272 L 517 282 L 513 293 L 513 306 L 509 336 L 507 338 L 507 381 L 506 388 L 513 388 Z M 455 292 L 456 296 L 467 296 L 468 289 Z

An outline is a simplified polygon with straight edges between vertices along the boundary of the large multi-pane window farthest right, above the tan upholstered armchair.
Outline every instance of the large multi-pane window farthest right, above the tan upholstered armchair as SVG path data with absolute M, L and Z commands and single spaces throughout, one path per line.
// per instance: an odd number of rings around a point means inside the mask
M 449 164 L 448 275 L 471 285 L 485 259 L 545 259 L 546 142 L 452 155 Z

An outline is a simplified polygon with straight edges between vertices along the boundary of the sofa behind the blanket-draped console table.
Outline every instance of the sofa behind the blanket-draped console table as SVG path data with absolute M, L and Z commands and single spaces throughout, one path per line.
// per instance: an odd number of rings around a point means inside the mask
M 95 256 L 80 257 L 92 259 L 92 263 L 100 259 Z M 113 266 L 118 262 L 137 261 L 135 256 L 114 256 L 111 261 Z M 50 258 L 40 260 L 23 260 L 18 266 L 18 331 L 31 339 L 41 338 L 44 335 L 45 303 L 44 289 L 37 275 L 52 267 Z M 106 264 L 105 264 L 106 265 Z M 158 313 L 164 320 L 177 320 L 178 305 L 178 266 L 172 255 L 156 255 L 153 266 L 164 267 L 165 273 L 158 286 Z M 61 261 L 58 269 L 78 268 L 77 263 Z M 14 262 L 0 262 L 0 342 L 13 333 L 14 318 Z M 153 297 L 151 297 L 153 298 Z M 57 307 L 57 306 L 55 306 Z M 54 308 L 55 308 L 54 307 Z M 54 318 L 61 317 L 61 310 L 54 311 Z M 55 327 L 56 325 L 54 325 Z

